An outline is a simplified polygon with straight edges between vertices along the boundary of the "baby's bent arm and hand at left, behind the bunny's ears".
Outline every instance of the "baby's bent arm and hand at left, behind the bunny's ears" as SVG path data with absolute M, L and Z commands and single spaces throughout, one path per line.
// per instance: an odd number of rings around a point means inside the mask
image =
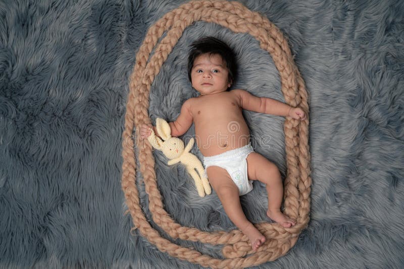
M 188 99 L 182 104 L 181 112 L 178 118 L 173 121 L 169 122 L 171 128 L 171 136 L 179 137 L 184 134 L 189 127 L 192 125 L 192 114 L 190 109 L 191 100 Z M 151 125 L 143 124 L 140 126 L 140 137 L 141 139 L 146 139 L 151 134 L 151 128 L 153 128 L 156 135 L 158 135 L 156 127 Z

